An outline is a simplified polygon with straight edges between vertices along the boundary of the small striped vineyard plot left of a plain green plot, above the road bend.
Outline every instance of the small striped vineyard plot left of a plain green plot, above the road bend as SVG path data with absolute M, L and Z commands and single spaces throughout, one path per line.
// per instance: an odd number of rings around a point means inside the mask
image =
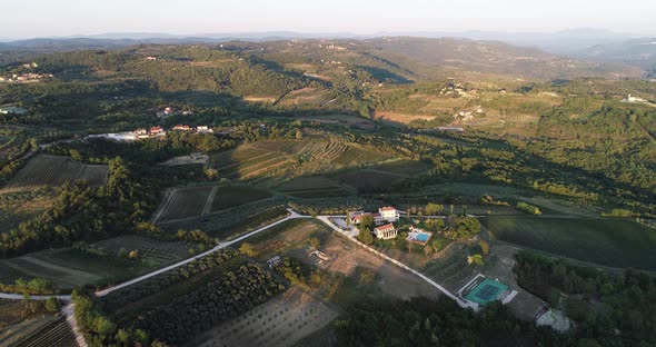
M 175 189 L 160 206 L 155 222 L 165 224 L 179 219 L 200 217 L 212 192 L 211 187 Z

